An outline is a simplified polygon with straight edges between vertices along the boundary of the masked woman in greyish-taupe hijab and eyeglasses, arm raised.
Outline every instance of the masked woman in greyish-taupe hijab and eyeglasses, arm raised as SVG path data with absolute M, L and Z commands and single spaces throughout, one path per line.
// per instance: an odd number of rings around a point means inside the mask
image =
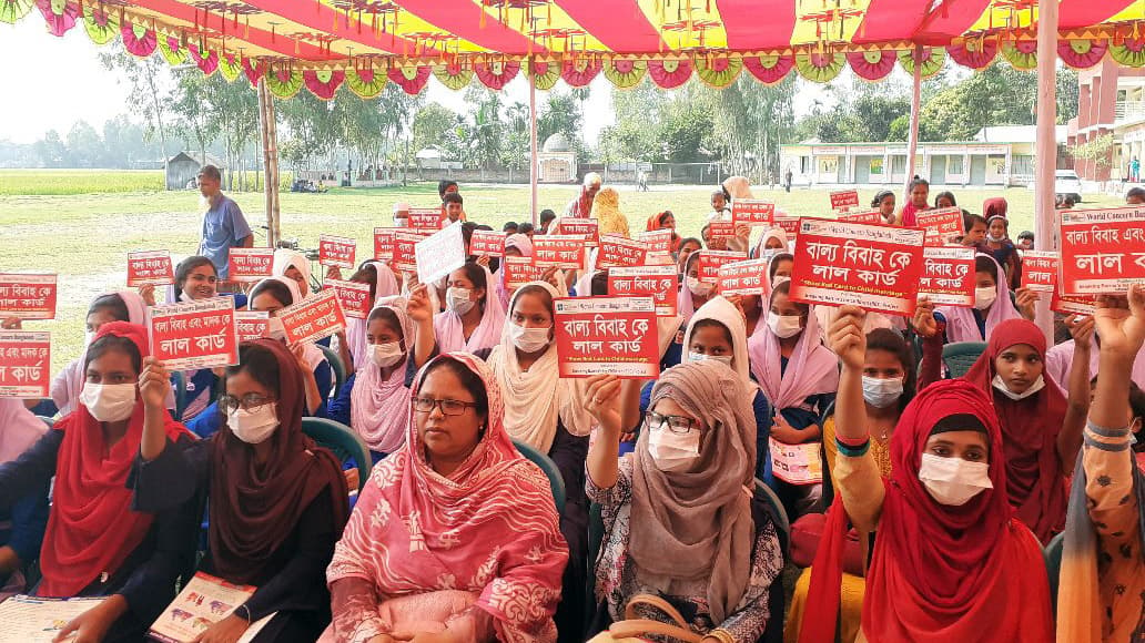
M 772 619 L 783 619 L 771 592 L 783 554 L 749 491 L 756 421 L 743 378 L 714 360 L 669 368 L 635 451 L 621 459 L 621 383 L 591 382 L 589 408 L 601 435 L 589 448 L 587 494 L 605 523 L 594 630 L 624 619 L 633 596 L 653 594 L 705 643 L 759 640 Z M 638 608 L 637 617 L 671 622 L 660 610 Z

